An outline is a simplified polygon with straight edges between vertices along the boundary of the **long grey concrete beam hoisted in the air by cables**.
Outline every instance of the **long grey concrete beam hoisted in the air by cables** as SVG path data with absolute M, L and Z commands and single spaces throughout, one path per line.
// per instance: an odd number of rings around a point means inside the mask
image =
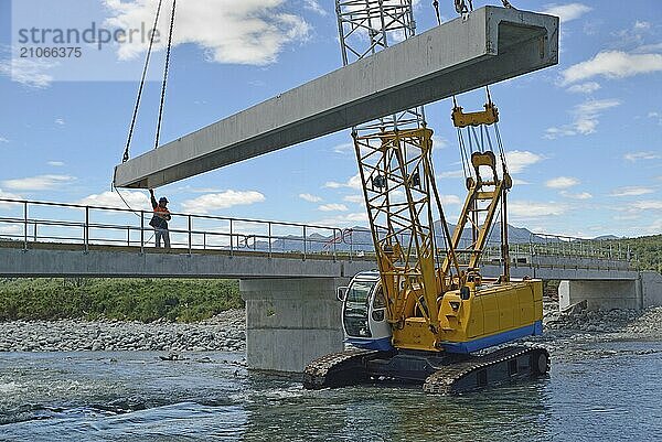
M 120 164 L 157 187 L 558 63 L 558 19 L 487 7 Z

